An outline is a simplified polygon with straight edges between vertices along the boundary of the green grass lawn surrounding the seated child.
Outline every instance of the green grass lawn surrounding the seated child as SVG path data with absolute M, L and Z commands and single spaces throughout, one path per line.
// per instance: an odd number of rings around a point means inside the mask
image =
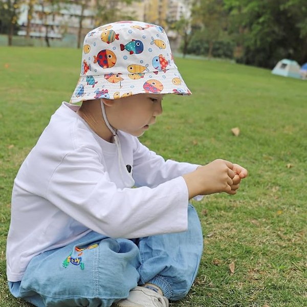
M 11 188 L 80 63 L 81 50 L 0 47 L 0 306 L 30 306 L 6 284 Z M 166 96 L 142 142 L 165 158 L 227 159 L 249 177 L 237 195 L 194 203 L 205 250 L 189 295 L 171 306 L 307 306 L 307 82 L 223 61 L 177 65 L 193 95 Z

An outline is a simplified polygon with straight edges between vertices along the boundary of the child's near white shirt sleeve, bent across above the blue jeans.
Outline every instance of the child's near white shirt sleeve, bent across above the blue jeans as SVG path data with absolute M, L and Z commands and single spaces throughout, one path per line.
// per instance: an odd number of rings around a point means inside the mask
M 82 147 L 66 155 L 53 172 L 46 198 L 79 223 L 110 237 L 186 231 L 186 183 L 180 176 L 166 181 L 165 174 L 157 175 L 165 182 L 154 187 L 119 189 L 109 179 L 98 153 Z

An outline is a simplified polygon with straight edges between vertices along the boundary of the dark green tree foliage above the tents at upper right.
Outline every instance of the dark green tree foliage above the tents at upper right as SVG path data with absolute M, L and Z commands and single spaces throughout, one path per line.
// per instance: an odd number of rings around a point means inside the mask
M 192 14 L 209 56 L 216 41 L 230 38 L 239 62 L 271 68 L 281 58 L 307 61 L 306 0 L 195 0 Z

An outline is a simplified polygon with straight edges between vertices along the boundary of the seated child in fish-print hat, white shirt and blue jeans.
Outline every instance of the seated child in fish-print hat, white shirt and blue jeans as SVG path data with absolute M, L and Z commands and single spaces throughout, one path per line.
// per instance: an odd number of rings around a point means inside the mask
M 165 161 L 138 140 L 164 94 L 191 94 L 161 27 L 96 28 L 82 55 L 81 107 L 62 103 L 14 181 L 9 289 L 36 306 L 167 307 L 188 293 L 203 250 L 188 201 L 235 194 L 247 170 Z

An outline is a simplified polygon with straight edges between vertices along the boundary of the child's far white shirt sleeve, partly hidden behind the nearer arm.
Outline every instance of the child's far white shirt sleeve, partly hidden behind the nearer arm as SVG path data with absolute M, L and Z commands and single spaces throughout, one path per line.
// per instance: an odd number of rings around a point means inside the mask
M 135 138 L 133 178 L 137 186 L 156 187 L 192 172 L 198 166 L 198 164 L 173 160 L 165 161 L 163 157 L 149 150 Z

